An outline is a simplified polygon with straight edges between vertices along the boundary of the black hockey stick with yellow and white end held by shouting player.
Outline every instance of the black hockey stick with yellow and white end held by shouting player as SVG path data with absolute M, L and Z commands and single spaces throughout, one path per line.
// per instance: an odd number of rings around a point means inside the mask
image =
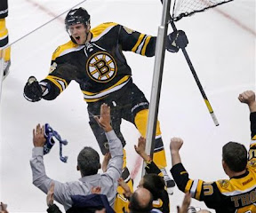
M 161 3 L 163 4 L 163 0 L 161 0 Z M 173 19 L 172 19 L 172 16 L 171 16 L 170 12 L 168 13 L 168 16 L 169 16 L 169 21 L 170 21 L 170 24 L 171 24 L 171 26 L 172 26 L 173 31 L 177 31 L 177 28 L 176 28 L 176 26 L 175 26 L 175 24 L 174 24 L 174 22 L 173 22 Z M 208 111 L 209 111 L 209 113 L 210 113 L 211 116 L 212 116 L 212 120 L 213 120 L 213 122 L 215 123 L 215 126 L 219 126 L 220 123 L 218 122 L 217 117 L 216 117 L 216 115 L 214 114 L 214 112 L 213 112 L 213 110 L 212 110 L 212 106 L 211 106 L 211 104 L 210 104 L 209 100 L 207 99 L 207 96 L 206 96 L 206 94 L 205 94 L 205 92 L 204 92 L 204 89 L 203 89 L 203 87 L 202 87 L 202 84 L 200 83 L 199 78 L 198 78 L 198 76 L 196 75 L 196 70 L 195 70 L 195 68 L 193 67 L 192 62 L 191 62 L 191 60 L 190 60 L 189 57 L 188 57 L 188 52 L 186 51 L 186 48 L 183 47 L 183 48 L 181 48 L 181 50 L 182 50 L 182 52 L 183 52 L 183 54 L 184 54 L 185 59 L 187 60 L 188 67 L 190 68 L 191 73 L 192 73 L 192 75 L 194 76 L 194 79 L 195 79 L 195 81 L 196 81 L 196 84 L 197 84 L 197 86 L 198 86 L 198 89 L 199 89 L 199 91 L 201 92 L 201 94 L 202 94 L 202 96 L 203 96 L 203 98 L 204 98 L 205 105 L 207 106 Z

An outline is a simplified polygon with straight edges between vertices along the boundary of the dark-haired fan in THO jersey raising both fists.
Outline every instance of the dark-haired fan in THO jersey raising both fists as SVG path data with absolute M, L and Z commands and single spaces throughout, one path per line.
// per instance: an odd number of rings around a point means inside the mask
M 204 201 L 208 208 L 217 213 L 256 212 L 256 102 L 253 91 L 244 91 L 238 97 L 250 109 L 252 141 L 249 156 L 244 145 L 228 142 L 222 147 L 222 166 L 229 179 L 214 182 L 190 179 L 180 159 L 181 138 L 172 138 L 172 177 L 179 189 L 198 201 Z

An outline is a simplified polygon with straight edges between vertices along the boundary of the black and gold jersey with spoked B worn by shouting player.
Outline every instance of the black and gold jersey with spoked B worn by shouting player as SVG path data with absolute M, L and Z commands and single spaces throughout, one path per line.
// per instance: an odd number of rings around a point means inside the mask
M 140 34 L 113 22 L 92 29 L 90 43 L 78 45 L 71 40 L 60 45 L 52 55 L 49 75 L 40 82 L 47 88 L 44 99 L 55 99 L 75 80 L 84 100 L 95 102 L 122 95 L 132 83 L 132 71 L 122 51 L 133 51 L 148 57 L 155 55 L 156 37 Z

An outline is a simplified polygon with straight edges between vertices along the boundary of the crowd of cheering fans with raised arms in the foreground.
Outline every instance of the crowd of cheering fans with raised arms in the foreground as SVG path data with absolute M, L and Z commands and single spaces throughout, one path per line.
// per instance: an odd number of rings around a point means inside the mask
M 215 182 L 191 180 L 188 171 L 181 163 L 181 138 L 172 138 L 170 151 L 172 156 L 172 177 L 179 189 L 185 193 L 181 206 L 177 212 L 210 212 L 206 209 L 196 210 L 189 206 L 191 198 L 204 201 L 216 212 L 255 212 L 255 168 L 256 168 L 256 102 L 253 91 L 244 91 L 238 97 L 250 109 L 252 142 L 249 155 L 244 145 L 228 142 L 222 147 L 222 166 L 229 179 Z M 140 179 L 140 184 L 133 192 L 133 185 L 127 185 L 121 177 L 123 168 L 123 146 L 115 131 L 111 127 L 110 107 L 103 104 L 100 107 L 100 116 L 95 120 L 105 131 L 108 138 L 109 153 L 102 162 L 100 155 L 92 147 L 84 147 L 77 156 L 77 170 L 81 178 L 77 181 L 60 183 L 48 177 L 44 169 L 44 126 L 36 125 L 33 130 L 33 154 L 30 161 L 33 173 L 33 184 L 47 193 L 47 212 L 60 213 L 57 201 L 64 206 L 68 213 L 72 212 L 170 212 L 169 195 L 166 192 L 164 177 L 145 153 L 146 139 L 140 137 L 138 145 L 134 146 L 137 154 L 146 163 L 146 175 Z M 117 190 L 120 187 L 122 190 Z M 117 197 L 123 197 L 124 202 L 118 202 Z M 173 203 L 171 203 L 174 205 Z M 120 210 L 121 209 L 121 210 Z M 240 210 L 240 211 L 237 211 Z M 250 211 L 251 210 L 251 211 Z M 1 202 L 1 213 L 8 213 L 6 205 Z

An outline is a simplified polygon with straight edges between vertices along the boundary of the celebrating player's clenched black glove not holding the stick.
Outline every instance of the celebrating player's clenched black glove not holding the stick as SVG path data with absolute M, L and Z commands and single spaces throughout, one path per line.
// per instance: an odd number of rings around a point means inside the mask
M 43 91 L 39 83 L 36 81 L 36 77 L 30 76 L 28 82 L 24 87 L 23 96 L 31 102 L 36 102 L 42 99 Z

